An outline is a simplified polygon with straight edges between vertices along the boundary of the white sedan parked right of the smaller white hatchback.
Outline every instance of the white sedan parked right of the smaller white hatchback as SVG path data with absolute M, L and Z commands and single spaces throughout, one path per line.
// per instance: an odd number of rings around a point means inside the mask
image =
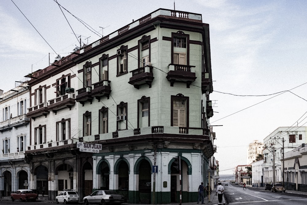
M 121 204 L 125 202 L 125 197 L 119 195 L 115 191 L 110 190 L 97 190 L 91 193 L 91 195 L 83 198 L 84 204 L 96 203 L 101 205 L 106 204 Z

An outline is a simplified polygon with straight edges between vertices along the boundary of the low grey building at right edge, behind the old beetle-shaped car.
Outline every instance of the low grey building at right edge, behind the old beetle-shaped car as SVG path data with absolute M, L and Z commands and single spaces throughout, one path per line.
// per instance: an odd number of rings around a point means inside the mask
M 305 138 L 306 140 L 306 138 Z M 284 156 L 284 173 L 286 190 L 307 191 L 307 147 L 299 147 Z

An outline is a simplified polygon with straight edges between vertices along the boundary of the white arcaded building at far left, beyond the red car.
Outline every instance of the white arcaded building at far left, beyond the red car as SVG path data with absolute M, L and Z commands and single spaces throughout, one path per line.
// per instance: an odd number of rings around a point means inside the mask
M 0 196 L 10 196 L 17 189 L 29 187 L 29 164 L 25 150 L 29 146 L 29 86 L 21 83 L 3 93 L 0 90 Z

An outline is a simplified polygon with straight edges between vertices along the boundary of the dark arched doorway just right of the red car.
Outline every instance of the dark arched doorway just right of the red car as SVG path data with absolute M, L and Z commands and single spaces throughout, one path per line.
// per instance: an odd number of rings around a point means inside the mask
M 48 193 L 48 168 L 41 165 L 35 169 L 36 173 L 36 190 L 38 194 Z

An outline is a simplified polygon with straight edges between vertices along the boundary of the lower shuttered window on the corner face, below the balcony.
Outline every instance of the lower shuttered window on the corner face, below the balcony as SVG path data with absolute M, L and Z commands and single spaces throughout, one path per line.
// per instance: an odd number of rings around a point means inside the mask
M 171 96 L 171 126 L 188 127 L 188 97 Z

